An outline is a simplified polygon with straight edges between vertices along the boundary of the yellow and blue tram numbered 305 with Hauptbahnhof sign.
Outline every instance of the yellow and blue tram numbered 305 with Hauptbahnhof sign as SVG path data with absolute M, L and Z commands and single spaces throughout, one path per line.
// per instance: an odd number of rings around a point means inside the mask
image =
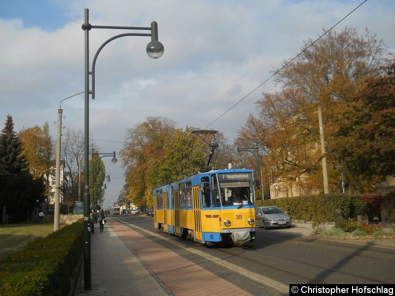
M 155 188 L 154 225 L 200 243 L 255 240 L 250 169 L 211 170 Z M 232 190 L 236 195 L 232 196 Z

